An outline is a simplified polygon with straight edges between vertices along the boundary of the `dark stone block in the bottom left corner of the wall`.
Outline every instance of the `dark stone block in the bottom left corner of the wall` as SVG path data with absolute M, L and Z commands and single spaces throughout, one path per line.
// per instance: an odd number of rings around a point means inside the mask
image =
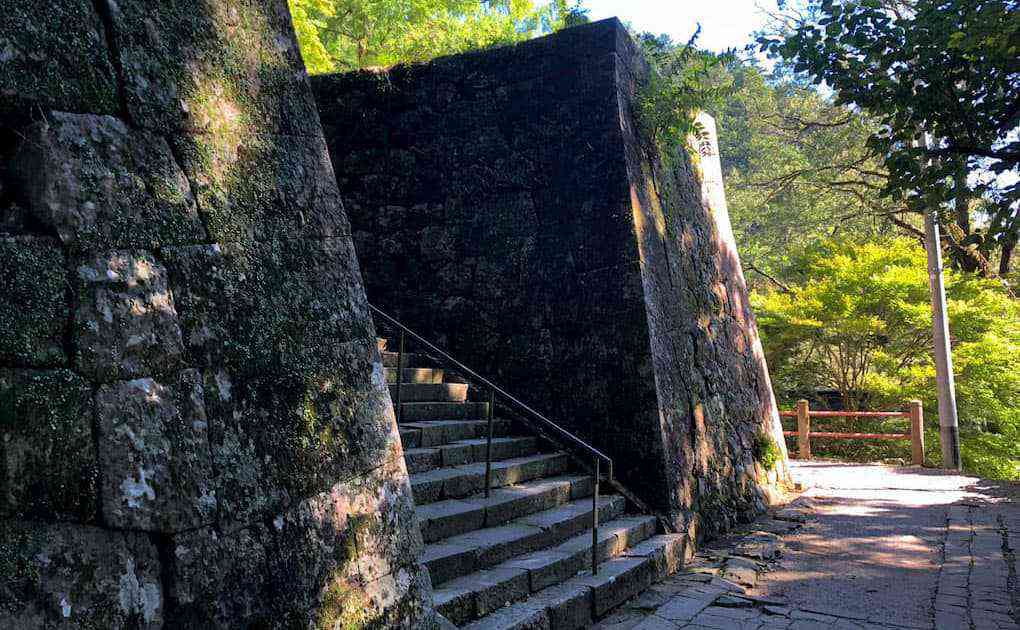
M 156 630 L 159 560 L 139 534 L 76 525 L 0 523 L 5 628 Z

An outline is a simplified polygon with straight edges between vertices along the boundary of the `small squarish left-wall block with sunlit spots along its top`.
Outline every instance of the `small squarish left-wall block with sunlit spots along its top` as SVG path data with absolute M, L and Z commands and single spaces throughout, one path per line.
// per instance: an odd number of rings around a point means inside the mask
M 184 343 L 167 273 L 150 252 L 115 250 L 74 268 L 76 363 L 98 381 L 165 373 L 183 366 Z

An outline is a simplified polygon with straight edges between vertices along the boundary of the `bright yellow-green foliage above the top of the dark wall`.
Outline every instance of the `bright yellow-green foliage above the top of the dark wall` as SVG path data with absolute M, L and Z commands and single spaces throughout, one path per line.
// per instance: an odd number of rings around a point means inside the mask
M 289 0 L 309 72 L 425 61 L 585 21 L 566 0 Z

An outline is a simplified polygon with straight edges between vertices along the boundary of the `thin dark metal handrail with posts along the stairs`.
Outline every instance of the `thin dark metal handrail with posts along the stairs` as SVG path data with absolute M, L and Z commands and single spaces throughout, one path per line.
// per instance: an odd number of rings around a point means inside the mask
M 556 424 L 555 422 L 553 422 L 549 418 L 547 418 L 544 415 L 540 414 L 539 412 L 534 411 L 531 407 L 529 407 L 529 406 L 525 405 L 524 403 L 522 403 L 519 399 L 517 399 L 515 396 L 509 393 L 503 387 L 500 387 L 499 385 L 497 385 L 493 381 L 489 380 L 488 378 L 486 378 L 484 376 L 478 374 L 477 372 L 475 372 L 471 368 L 467 367 L 466 365 L 464 365 L 463 363 L 461 363 L 457 359 L 453 358 L 447 352 L 445 352 L 444 350 L 442 350 L 441 348 L 439 348 L 438 346 L 436 346 L 435 344 L 432 344 L 431 342 L 429 342 L 425 337 L 421 336 L 417 332 L 411 330 L 406 325 L 404 325 L 403 323 L 401 323 L 400 321 L 398 321 L 396 318 L 394 318 L 393 316 L 387 314 L 385 311 L 382 311 L 381 309 L 379 309 L 378 307 L 376 307 L 374 304 L 369 304 L 368 308 L 370 308 L 372 311 L 374 311 L 376 314 L 378 314 L 380 317 L 382 317 L 384 319 L 386 319 L 389 323 L 391 323 L 392 325 L 396 326 L 400 330 L 400 346 L 399 346 L 399 350 L 397 352 L 397 367 L 396 367 L 396 370 L 397 370 L 397 378 L 396 378 L 396 385 L 397 385 L 397 387 L 396 387 L 396 389 L 397 389 L 397 396 L 396 396 L 396 398 L 397 398 L 397 401 L 396 401 L 396 404 L 395 404 L 395 407 L 396 407 L 396 416 L 397 416 L 398 422 L 400 421 L 401 408 L 402 408 L 402 405 L 401 405 L 401 403 L 402 403 L 401 383 L 404 380 L 402 370 L 404 369 L 404 335 L 405 334 L 410 335 L 415 340 L 417 340 L 419 344 L 421 344 L 422 346 L 424 346 L 425 348 L 427 348 L 429 351 L 431 351 L 432 353 L 435 353 L 435 354 L 439 355 L 440 357 L 442 357 L 445 361 L 447 361 L 450 364 L 452 364 L 457 370 L 459 370 L 460 372 L 463 372 L 469 378 L 472 378 L 475 381 L 480 382 L 482 385 L 484 385 L 486 387 L 489 388 L 490 399 L 489 399 L 489 406 L 488 406 L 487 413 L 486 413 L 486 419 L 487 419 L 487 422 L 488 422 L 488 431 L 487 431 L 487 440 L 486 440 L 486 490 L 484 491 L 486 491 L 486 497 L 487 498 L 490 495 L 490 490 L 491 490 L 491 487 L 492 487 L 493 409 L 496 406 L 496 397 L 497 397 L 497 395 L 499 395 L 499 397 L 502 398 L 503 400 L 508 401 L 509 403 L 513 404 L 515 407 L 517 407 L 520 410 L 524 411 L 532 419 L 538 420 L 540 423 L 542 423 L 546 428 L 549 428 L 552 431 L 554 431 L 560 438 L 563 438 L 567 442 L 569 442 L 570 445 L 574 447 L 575 449 L 584 451 L 590 456 L 592 456 L 592 461 L 593 461 L 593 466 L 592 466 L 592 469 L 593 469 L 593 474 L 592 474 L 592 477 L 593 477 L 593 492 L 592 492 L 592 573 L 593 574 L 598 574 L 598 572 L 599 572 L 599 554 L 598 554 L 598 545 L 599 545 L 599 481 L 602 478 L 602 475 L 600 474 L 600 471 L 601 471 L 601 468 L 602 468 L 600 466 L 600 463 L 601 462 L 605 462 L 606 463 L 606 470 L 607 470 L 606 480 L 608 482 L 610 482 L 610 483 L 613 483 L 614 482 L 614 479 L 613 479 L 613 460 L 608 455 L 602 453 L 601 451 L 599 451 L 598 449 L 596 449 L 592 444 L 588 443 L 583 439 L 577 437 L 576 435 L 574 435 L 570 431 L 566 430 L 562 426 Z

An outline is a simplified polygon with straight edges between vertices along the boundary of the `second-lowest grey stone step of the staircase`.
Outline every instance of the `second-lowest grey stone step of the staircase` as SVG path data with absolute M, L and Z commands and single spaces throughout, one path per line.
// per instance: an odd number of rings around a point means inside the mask
M 615 519 L 600 527 L 596 547 L 600 575 L 608 561 L 624 557 L 633 545 L 648 544 L 655 528 L 652 517 Z M 588 529 L 558 545 L 451 580 L 436 588 L 434 596 L 444 617 L 464 625 L 508 602 L 538 596 L 576 576 L 591 575 L 591 567 L 592 530 Z M 591 617 L 589 612 L 588 618 Z

